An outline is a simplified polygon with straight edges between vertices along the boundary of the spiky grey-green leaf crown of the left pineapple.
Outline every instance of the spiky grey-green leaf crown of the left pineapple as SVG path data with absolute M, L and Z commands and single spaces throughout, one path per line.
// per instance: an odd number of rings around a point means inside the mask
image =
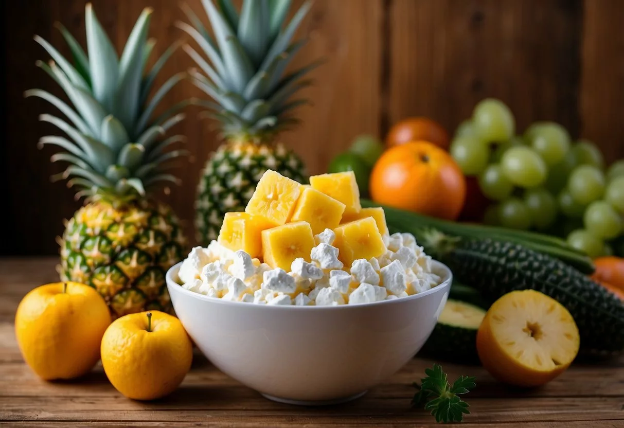
M 73 64 L 49 42 L 34 37 L 52 57 L 48 64 L 37 61 L 37 66 L 61 86 L 73 108 L 45 90 L 31 89 L 24 95 L 46 100 L 69 120 L 41 115 L 39 119 L 55 125 L 69 139 L 42 137 L 39 146 L 51 144 L 64 150 L 51 160 L 70 165 L 53 178 L 72 177 L 67 185 L 79 188 L 77 198 L 132 200 L 144 196 L 156 183 L 178 182 L 167 173 L 168 161 L 187 152 L 169 149 L 183 139 L 179 135 L 163 139 L 163 135 L 183 119 L 178 112 L 191 101 L 173 105 L 152 120 L 157 105 L 186 74 L 173 75 L 149 98 L 155 78 L 180 46 L 180 43 L 170 46 L 154 66 L 146 70 L 155 44 L 153 39 L 147 38 L 151 14 L 150 8 L 140 14 L 121 57 L 117 57 L 91 4 L 85 7 L 88 55 L 70 32 L 57 24 L 69 46 Z

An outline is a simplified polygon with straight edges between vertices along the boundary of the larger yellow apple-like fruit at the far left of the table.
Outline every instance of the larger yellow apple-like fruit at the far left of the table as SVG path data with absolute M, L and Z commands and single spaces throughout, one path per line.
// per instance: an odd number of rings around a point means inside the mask
M 110 324 L 109 308 L 94 288 L 55 283 L 33 289 L 15 316 L 19 350 L 43 379 L 82 376 L 100 359 L 100 341 Z

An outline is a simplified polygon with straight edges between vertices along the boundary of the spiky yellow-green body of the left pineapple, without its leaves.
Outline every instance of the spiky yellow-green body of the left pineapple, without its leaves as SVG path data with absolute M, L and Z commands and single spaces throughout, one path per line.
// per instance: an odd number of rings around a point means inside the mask
M 67 221 L 59 243 L 61 280 L 97 289 L 113 319 L 145 310 L 172 313 L 165 273 L 182 260 L 185 238 L 166 205 L 89 203 Z

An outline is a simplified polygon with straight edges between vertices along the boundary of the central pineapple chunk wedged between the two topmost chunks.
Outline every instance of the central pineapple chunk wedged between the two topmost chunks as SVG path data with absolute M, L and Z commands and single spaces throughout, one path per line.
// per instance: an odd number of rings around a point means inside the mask
M 343 212 L 344 203 L 313 188 L 305 188 L 291 221 L 307 221 L 310 223 L 312 233 L 318 235 L 325 229 L 338 227 Z

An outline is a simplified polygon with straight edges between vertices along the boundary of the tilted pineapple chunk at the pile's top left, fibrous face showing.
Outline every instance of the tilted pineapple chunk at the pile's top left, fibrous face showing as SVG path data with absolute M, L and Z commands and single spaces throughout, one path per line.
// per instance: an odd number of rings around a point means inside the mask
M 271 221 L 274 226 L 285 224 L 295 210 L 303 188 L 295 180 L 267 170 L 251 197 L 245 212 Z

